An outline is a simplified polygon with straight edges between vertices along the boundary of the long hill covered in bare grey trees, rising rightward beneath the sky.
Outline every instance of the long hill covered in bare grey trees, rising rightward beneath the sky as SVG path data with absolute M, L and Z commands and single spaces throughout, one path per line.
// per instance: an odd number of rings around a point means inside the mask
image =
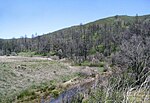
M 41 55 L 83 57 L 85 60 L 95 53 L 110 56 L 119 51 L 122 42 L 134 34 L 149 37 L 150 15 L 116 15 L 42 36 L 0 39 L 0 55 L 32 51 Z

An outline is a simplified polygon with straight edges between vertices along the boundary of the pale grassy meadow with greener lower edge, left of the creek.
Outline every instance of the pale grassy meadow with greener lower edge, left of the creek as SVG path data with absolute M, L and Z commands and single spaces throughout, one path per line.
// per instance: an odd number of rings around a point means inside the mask
M 75 76 L 78 71 L 57 61 L 3 57 L 0 61 L 0 102 L 38 102 L 50 93 L 57 95 L 61 90 L 53 91 L 56 85 Z

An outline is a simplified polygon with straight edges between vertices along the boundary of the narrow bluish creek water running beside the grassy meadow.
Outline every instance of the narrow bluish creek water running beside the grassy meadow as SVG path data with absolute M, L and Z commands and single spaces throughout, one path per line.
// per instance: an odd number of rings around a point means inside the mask
M 60 93 L 57 98 L 51 97 L 48 101 L 42 100 L 41 103 L 71 103 L 74 98 L 81 98 L 79 94 L 86 95 L 94 86 L 94 80 L 84 82 Z

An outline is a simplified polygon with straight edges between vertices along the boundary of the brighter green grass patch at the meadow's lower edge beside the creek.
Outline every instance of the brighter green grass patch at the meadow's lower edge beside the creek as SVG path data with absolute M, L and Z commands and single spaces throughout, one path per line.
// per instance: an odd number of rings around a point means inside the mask
M 49 82 L 41 82 L 39 84 L 33 84 L 29 88 L 21 91 L 17 95 L 17 102 L 32 102 L 38 100 L 41 97 L 46 98 L 48 95 L 53 93 L 53 90 L 56 88 L 56 82 L 51 80 Z

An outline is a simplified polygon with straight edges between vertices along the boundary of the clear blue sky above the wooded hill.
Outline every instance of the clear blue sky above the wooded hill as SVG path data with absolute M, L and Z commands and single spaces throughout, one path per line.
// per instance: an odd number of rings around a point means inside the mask
M 0 38 L 42 35 L 114 15 L 150 14 L 150 0 L 0 0 Z

